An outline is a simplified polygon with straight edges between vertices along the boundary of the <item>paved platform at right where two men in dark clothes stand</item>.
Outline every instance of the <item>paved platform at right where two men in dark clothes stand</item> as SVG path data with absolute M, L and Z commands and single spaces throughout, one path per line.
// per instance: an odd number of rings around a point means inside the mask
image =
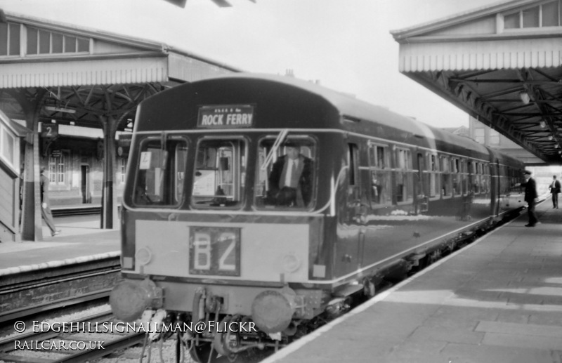
M 261 363 L 562 362 L 562 209 L 527 213 Z

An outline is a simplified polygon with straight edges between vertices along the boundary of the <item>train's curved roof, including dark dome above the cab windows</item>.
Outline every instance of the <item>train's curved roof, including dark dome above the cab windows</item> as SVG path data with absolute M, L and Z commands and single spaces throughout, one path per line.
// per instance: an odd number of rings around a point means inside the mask
M 139 106 L 137 118 L 139 115 L 141 117 L 139 122 L 135 122 L 135 130 L 196 128 L 197 119 L 186 118 L 185 115 L 196 113 L 201 105 L 260 102 L 267 104 L 265 113 L 262 109 L 260 115 L 262 120 L 268 119 L 268 127 L 340 128 L 372 137 L 399 139 L 402 143 L 446 150 L 454 154 L 471 154 L 483 159 L 488 159 L 490 154 L 488 148 L 469 138 L 428 126 L 385 107 L 372 105 L 309 81 L 273 74 L 234 73 L 202 79 L 157 93 Z M 287 119 L 286 114 L 277 114 L 279 107 L 291 110 L 293 116 L 300 115 L 300 118 L 295 116 Z M 312 114 L 313 118 L 318 114 L 322 117 L 311 122 L 299 121 Z M 317 122 L 320 120 L 321 123 Z M 378 126 L 391 133 L 381 133 Z

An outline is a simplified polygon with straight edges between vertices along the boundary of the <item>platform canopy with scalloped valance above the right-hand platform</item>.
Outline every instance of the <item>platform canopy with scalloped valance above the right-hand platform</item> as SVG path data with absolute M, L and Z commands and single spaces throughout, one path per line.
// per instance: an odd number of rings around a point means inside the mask
M 391 32 L 400 72 L 562 162 L 562 1 L 515 0 Z

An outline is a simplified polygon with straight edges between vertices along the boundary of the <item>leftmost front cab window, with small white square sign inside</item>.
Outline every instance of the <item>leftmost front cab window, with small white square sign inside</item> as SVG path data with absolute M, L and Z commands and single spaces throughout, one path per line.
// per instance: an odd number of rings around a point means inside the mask
M 188 145 L 183 138 L 148 138 L 141 143 L 133 204 L 174 206 L 183 200 Z

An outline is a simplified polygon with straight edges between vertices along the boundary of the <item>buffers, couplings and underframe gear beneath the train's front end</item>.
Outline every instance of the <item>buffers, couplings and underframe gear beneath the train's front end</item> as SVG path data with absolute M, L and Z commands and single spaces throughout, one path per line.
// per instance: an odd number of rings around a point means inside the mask
M 128 283 L 131 280 L 121 286 Z M 262 288 L 249 314 L 228 313 L 227 294 L 221 293 L 221 286 L 198 286 L 191 311 L 164 309 L 169 305 L 164 303 L 165 289 L 150 279 L 135 284 L 133 294 L 150 301 L 150 308 L 138 320 L 138 326 L 145 327 L 147 341 L 177 339 L 178 359 L 189 352 L 202 363 L 220 362 L 219 357 L 230 362 L 256 362 L 344 314 L 365 292 L 374 295 L 372 282 L 365 280 L 365 284 L 353 291 L 342 289 L 336 295 L 322 289 Z M 121 296 L 121 301 L 124 295 L 131 296 L 131 286 L 112 294 L 114 298 Z M 113 304 L 112 308 L 117 311 Z

